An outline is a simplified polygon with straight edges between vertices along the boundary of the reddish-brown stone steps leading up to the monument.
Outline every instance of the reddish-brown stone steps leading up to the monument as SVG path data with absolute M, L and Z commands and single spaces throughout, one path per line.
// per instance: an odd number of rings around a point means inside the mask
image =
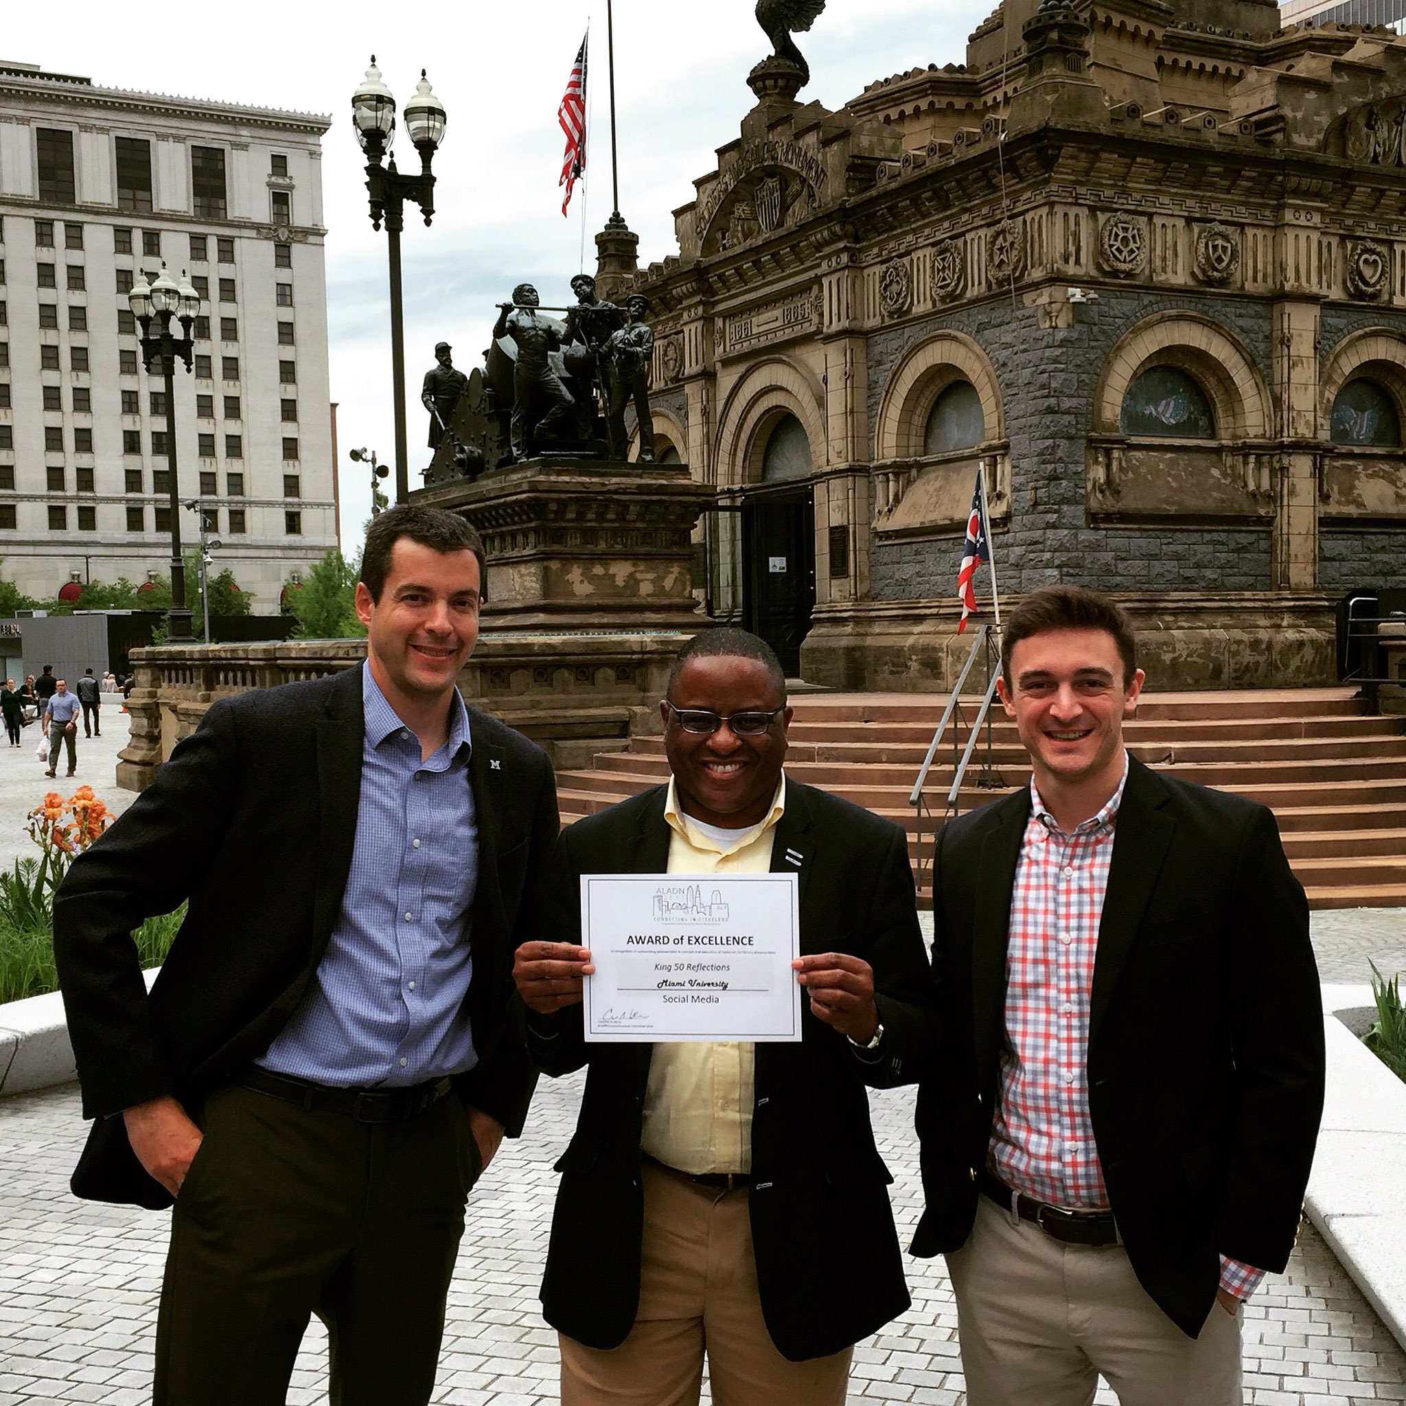
M 898 821 L 917 860 L 908 792 L 945 699 L 801 693 L 792 702 L 787 772 Z M 969 700 L 967 717 L 976 706 Z M 1350 688 L 1144 693 L 1125 737 L 1152 766 L 1270 806 L 1313 907 L 1406 907 L 1406 718 L 1365 714 Z M 983 756 L 984 747 L 967 772 L 962 810 L 1029 776 L 1015 725 L 1000 709 L 993 727 L 997 790 L 977 786 Z M 953 761 L 949 730 L 928 780 L 936 824 Z M 558 773 L 562 824 L 666 778 L 661 738 L 637 737 L 628 751 L 602 752 L 589 770 Z

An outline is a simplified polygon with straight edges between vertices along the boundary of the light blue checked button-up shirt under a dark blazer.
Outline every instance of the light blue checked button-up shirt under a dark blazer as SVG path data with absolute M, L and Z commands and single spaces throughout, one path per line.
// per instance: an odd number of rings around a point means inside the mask
M 449 741 L 422 762 L 419 738 L 361 668 L 361 799 L 342 912 L 259 1063 L 336 1088 L 401 1088 L 478 1060 L 464 1008 L 478 887 L 471 738 L 456 690 Z

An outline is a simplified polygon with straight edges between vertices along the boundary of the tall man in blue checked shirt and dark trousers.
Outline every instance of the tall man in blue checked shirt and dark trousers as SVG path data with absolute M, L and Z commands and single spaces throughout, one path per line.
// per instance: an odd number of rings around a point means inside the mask
M 427 1402 L 468 1191 L 536 1073 L 508 1019 L 557 832 L 546 755 L 456 688 L 482 544 L 367 534 L 366 665 L 217 702 L 55 904 L 80 1197 L 170 1205 L 157 1406 L 273 1406 L 309 1315 L 337 1406 Z M 150 994 L 131 932 L 188 901 Z

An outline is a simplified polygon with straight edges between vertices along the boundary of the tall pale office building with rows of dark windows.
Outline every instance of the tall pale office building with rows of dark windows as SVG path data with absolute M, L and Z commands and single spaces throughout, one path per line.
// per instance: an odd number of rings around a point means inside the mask
M 128 308 L 188 273 L 181 501 L 256 610 L 336 546 L 325 117 L 94 87 L 0 62 L 0 576 L 38 599 L 170 569 L 160 375 Z M 181 538 L 198 541 L 181 509 Z M 194 585 L 187 588 L 194 599 Z

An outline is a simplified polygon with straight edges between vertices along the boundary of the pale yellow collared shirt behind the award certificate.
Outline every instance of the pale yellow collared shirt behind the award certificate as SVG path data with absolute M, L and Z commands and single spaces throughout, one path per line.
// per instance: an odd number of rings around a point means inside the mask
M 673 778 L 664 804 L 671 875 L 761 875 L 772 868 L 776 823 L 786 811 L 786 778 L 766 818 L 716 838 L 679 807 Z M 644 1091 L 640 1147 L 679 1171 L 751 1171 L 756 1046 L 751 1040 L 654 1046 Z

